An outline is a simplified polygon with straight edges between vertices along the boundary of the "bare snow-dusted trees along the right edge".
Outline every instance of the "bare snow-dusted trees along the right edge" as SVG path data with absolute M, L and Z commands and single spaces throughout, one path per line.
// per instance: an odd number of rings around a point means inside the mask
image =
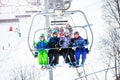
M 120 80 L 120 0 L 103 0 L 106 36 L 101 40 L 102 54 L 115 66 L 116 80 Z M 100 51 L 101 51 L 100 50 Z

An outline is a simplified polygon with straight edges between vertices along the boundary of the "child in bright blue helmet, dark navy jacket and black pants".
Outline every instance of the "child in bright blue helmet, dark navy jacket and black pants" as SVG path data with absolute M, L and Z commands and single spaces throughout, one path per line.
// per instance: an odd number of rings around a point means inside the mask
M 49 39 L 48 42 L 49 48 L 57 48 L 59 47 L 59 38 L 58 32 L 55 30 L 53 32 L 53 37 Z M 58 49 L 51 49 L 49 50 L 49 64 L 50 66 L 54 67 L 58 64 L 59 61 L 59 50 Z

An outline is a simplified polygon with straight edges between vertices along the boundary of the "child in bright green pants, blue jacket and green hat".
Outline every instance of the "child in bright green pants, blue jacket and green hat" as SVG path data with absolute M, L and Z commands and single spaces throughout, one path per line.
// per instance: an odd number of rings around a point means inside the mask
M 45 35 L 41 34 L 40 41 L 36 44 L 36 50 L 38 51 L 38 63 L 42 65 L 42 68 L 47 68 L 48 54 L 45 48 L 48 47 L 48 43 L 45 40 Z

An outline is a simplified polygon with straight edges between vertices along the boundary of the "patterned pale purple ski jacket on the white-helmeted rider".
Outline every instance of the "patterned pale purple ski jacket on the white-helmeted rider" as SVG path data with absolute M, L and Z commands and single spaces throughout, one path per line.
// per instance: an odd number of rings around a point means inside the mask
M 63 48 L 67 48 L 67 47 L 70 47 L 70 42 L 71 42 L 71 37 L 70 36 L 64 36 L 64 37 L 61 37 L 60 38 L 60 46 L 63 47 Z

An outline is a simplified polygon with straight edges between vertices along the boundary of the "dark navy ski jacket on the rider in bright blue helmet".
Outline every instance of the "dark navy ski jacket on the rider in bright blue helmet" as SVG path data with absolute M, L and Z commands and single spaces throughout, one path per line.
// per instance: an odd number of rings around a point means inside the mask
M 48 41 L 48 47 L 49 48 L 59 47 L 59 40 L 60 40 L 60 38 L 58 38 L 58 37 L 51 37 Z

